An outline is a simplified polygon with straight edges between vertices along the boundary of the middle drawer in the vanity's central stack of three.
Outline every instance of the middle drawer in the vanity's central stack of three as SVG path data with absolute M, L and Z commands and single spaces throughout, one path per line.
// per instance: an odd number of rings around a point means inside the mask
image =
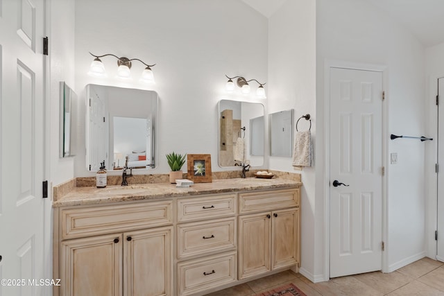
M 178 225 L 178 259 L 236 247 L 236 218 Z

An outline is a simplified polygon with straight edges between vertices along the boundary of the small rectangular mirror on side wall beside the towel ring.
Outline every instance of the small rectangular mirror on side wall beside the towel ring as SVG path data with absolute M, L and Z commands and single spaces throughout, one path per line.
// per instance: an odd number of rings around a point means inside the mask
M 293 109 L 270 114 L 270 155 L 293 155 Z

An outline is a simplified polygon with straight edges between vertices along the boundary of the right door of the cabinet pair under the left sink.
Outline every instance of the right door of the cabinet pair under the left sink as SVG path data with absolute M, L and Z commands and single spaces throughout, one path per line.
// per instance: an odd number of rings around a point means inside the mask
M 123 295 L 172 295 L 172 233 L 171 226 L 123 234 Z

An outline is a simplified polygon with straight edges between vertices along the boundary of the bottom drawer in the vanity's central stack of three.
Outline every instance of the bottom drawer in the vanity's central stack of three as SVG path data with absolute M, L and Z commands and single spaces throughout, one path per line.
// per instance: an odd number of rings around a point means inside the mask
M 191 295 L 236 281 L 236 252 L 178 263 L 179 295 Z

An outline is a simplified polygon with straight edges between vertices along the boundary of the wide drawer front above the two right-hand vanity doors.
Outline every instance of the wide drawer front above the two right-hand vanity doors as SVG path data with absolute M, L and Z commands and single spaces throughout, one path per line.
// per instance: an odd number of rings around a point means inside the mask
M 239 214 L 298 207 L 300 188 L 239 193 Z

